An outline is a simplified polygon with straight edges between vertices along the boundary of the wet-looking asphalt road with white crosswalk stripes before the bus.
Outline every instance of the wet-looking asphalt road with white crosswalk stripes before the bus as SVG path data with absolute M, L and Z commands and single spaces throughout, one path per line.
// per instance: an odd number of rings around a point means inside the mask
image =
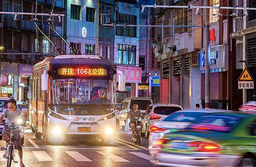
M 3 140 L 0 146 L 4 147 Z M 7 165 L 0 151 L 0 167 Z M 17 151 L 15 159 L 19 162 Z M 148 154 L 148 139 L 142 138 L 141 146 L 131 141 L 131 133 L 116 131 L 108 146 L 97 139 L 79 139 L 61 145 L 48 145 L 43 139 L 35 138 L 29 126 L 25 129 L 23 162 L 26 167 L 145 167 L 151 163 Z M 19 167 L 19 163 L 13 163 Z

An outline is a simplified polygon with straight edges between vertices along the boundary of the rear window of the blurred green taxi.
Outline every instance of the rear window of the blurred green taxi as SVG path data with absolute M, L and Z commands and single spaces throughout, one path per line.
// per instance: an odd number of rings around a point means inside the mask
M 241 118 L 229 115 L 205 115 L 200 117 L 188 129 L 230 132 L 241 121 Z

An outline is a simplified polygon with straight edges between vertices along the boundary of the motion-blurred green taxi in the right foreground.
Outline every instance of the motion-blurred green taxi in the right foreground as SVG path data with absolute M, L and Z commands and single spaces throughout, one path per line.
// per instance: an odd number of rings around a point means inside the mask
M 165 134 L 156 159 L 171 167 L 256 167 L 256 113 L 204 115 Z

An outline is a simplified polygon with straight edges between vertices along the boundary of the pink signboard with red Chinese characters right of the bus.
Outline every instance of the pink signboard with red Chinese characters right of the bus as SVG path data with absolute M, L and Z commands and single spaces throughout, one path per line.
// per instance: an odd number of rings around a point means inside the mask
M 141 83 L 141 67 L 117 66 L 117 70 L 123 72 L 126 83 Z

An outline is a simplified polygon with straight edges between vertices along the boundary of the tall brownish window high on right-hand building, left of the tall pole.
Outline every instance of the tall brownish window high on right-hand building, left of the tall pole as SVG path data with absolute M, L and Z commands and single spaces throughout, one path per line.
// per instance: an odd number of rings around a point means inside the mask
M 178 2 L 176 5 L 187 5 L 187 3 Z M 174 25 L 187 25 L 187 9 L 185 8 L 175 8 L 174 9 Z M 185 27 L 175 28 L 175 33 L 184 33 L 187 32 Z

